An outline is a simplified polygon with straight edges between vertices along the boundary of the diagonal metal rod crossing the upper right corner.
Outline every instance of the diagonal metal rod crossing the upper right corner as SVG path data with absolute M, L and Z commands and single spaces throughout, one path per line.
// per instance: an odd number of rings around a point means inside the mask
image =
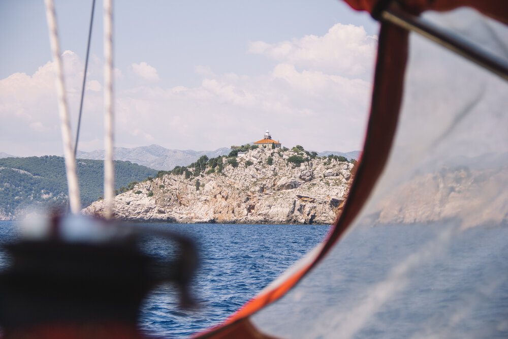
M 508 80 L 508 63 L 505 60 L 472 45 L 458 36 L 443 32 L 421 18 L 405 13 L 393 6 L 385 10 L 381 14 L 381 18 L 404 29 L 412 30 L 488 69 L 504 80 Z

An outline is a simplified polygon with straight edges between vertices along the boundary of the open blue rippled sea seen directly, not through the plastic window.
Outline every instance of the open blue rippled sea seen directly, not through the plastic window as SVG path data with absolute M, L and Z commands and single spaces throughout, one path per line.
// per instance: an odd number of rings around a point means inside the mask
M 186 234 L 196 241 L 200 256 L 192 285 L 197 309 L 180 309 L 178 290 L 172 285 L 156 288 L 145 299 L 140 327 L 156 337 L 188 337 L 224 321 L 321 242 L 330 227 L 167 223 L 146 226 Z M 16 222 L 0 221 L 0 243 L 17 238 Z M 143 252 L 157 257 L 171 255 L 173 247 L 170 240 L 155 236 L 146 236 L 141 243 Z M 5 257 L 0 257 L 0 268 L 6 265 Z

